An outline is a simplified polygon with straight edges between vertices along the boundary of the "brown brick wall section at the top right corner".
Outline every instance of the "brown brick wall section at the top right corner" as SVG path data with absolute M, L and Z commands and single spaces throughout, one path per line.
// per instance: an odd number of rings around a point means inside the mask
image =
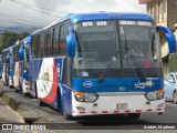
M 177 23 L 177 0 L 167 0 L 167 9 L 168 9 L 168 23 L 167 25 L 175 31 L 175 24 Z

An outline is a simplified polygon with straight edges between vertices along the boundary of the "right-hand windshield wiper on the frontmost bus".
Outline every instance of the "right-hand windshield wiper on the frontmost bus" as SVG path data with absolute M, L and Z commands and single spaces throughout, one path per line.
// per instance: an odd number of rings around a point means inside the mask
M 137 72 L 139 79 L 140 79 L 140 82 L 145 82 L 145 78 L 144 78 L 144 75 L 142 73 L 142 70 L 140 70 L 139 65 L 138 65 L 138 62 L 137 62 L 133 51 L 127 47 L 126 35 L 125 35 L 125 50 L 127 52 L 127 58 L 128 58 L 128 54 L 129 54 L 129 59 L 133 61 L 133 64 L 135 66 L 135 70 Z

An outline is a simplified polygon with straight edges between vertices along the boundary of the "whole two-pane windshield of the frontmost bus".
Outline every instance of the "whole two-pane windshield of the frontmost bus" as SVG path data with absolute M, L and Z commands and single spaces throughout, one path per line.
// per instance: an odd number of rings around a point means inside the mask
M 100 78 L 117 49 L 121 49 L 121 55 L 114 60 L 105 76 L 138 76 L 135 72 L 137 66 L 145 76 L 162 75 L 155 25 L 144 21 L 131 22 L 86 21 L 74 24 L 77 40 L 74 76 Z M 131 55 L 138 65 L 134 65 Z M 149 70 L 152 73 L 147 72 Z

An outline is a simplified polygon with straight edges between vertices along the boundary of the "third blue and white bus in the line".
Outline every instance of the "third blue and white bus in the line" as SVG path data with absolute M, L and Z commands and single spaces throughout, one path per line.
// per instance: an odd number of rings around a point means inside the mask
M 12 47 L 2 50 L 2 82 L 3 85 L 9 85 L 10 88 L 13 86 L 12 80 Z

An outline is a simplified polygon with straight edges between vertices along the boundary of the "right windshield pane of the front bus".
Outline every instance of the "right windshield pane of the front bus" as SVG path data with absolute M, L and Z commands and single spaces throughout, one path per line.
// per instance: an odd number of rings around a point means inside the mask
M 135 58 L 139 68 L 162 66 L 159 38 L 153 23 L 119 21 L 119 34 L 124 69 L 134 68 L 131 55 Z

